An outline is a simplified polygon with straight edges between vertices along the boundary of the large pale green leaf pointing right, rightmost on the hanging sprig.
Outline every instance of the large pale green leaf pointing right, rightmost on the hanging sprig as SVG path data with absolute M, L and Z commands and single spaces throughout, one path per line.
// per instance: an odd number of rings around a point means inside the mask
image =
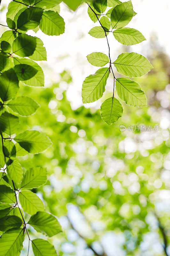
M 135 52 L 121 53 L 113 64 L 120 74 L 130 77 L 143 76 L 153 68 L 148 59 Z

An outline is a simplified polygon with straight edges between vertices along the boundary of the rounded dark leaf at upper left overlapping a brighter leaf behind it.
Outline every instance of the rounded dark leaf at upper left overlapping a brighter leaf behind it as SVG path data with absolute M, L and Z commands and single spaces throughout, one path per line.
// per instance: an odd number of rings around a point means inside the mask
M 12 52 L 20 57 L 27 57 L 33 54 L 36 48 L 36 39 L 26 34 L 19 35 L 12 44 Z

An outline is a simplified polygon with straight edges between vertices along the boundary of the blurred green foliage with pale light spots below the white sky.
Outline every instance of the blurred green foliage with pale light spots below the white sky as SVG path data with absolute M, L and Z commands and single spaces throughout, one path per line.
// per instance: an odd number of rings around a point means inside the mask
M 67 71 L 49 88 L 20 89 L 41 105 L 34 116 L 21 118 L 20 128 L 45 132 L 53 142 L 45 153 L 20 161 L 25 170 L 48 169 L 48 182 L 34 192 L 42 193 L 46 211 L 59 217 L 65 231 L 52 241 L 59 255 L 93 255 L 90 246 L 98 255 L 165 255 L 159 225 L 169 243 L 170 60 L 157 45 L 151 46 L 154 69 L 135 79 L 142 80 L 149 106 L 123 103 L 124 116 L 112 126 L 95 108 L 71 109 Z M 120 125 L 159 129 L 120 132 Z

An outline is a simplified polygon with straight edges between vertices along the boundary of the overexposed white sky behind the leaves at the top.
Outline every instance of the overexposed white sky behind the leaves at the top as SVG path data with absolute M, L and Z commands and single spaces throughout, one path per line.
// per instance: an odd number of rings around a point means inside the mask
M 137 15 L 130 21 L 128 27 L 136 28 L 142 32 L 147 41 L 133 45 L 131 52 L 146 55 L 150 36 L 155 32 L 159 44 L 170 55 L 170 33 L 167 31 L 170 25 L 170 0 L 132 0 L 132 4 Z M 63 70 L 70 70 L 73 84 L 69 87 L 67 97 L 72 102 L 72 107 L 77 108 L 82 105 L 81 86 L 85 77 L 97 70 L 97 67 L 89 64 L 86 56 L 91 52 L 108 54 L 108 47 L 105 38 L 97 39 L 88 34 L 92 27 L 99 24 L 98 22 L 94 24 L 90 20 L 87 5 L 82 5 L 76 12 L 69 11 L 64 4 L 60 4 L 60 6 L 60 15 L 66 23 L 65 33 L 60 36 L 47 36 L 39 30 L 36 36 L 44 42 L 48 57 L 47 64 L 51 69 L 51 72 L 49 70 L 45 72 L 46 85 L 48 86 L 51 81 L 57 81 L 58 74 Z M 0 18 L 1 21 L 4 21 L 5 14 Z M 112 60 L 115 60 L 120 54 L 122 45 L 115 40 L 112 33 L 109 34 L 108 38 L 111 57 Z M 95 104 L 86 105 L 88 107 Z

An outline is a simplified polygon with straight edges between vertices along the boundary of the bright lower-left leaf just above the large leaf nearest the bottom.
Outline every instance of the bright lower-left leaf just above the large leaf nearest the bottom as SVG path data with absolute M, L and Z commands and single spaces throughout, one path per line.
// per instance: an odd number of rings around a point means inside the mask
M 44 211 L 44 204 L 41 199 L 30 190 L 22 190 L 19 192 L 19 202 L 23 210 L 30 215 L 38 211 Z

